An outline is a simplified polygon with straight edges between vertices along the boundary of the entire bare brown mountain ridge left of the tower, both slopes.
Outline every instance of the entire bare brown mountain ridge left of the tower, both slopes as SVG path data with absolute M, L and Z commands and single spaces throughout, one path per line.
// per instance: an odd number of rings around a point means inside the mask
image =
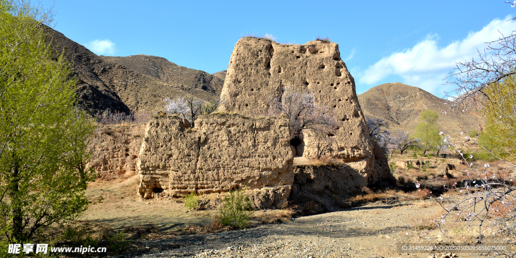
M 220 78 L 180 67 L 165 58 L 98 56 L 59 31 L 47 29 L 52 46 L 65 54 L 72 75 L 78 79 L 79 105 L 90 113 L 108 109 L 158 111 L 163 109 L 166 97 L 195 95 L 210 101 L 218 98 L 222 88 Z

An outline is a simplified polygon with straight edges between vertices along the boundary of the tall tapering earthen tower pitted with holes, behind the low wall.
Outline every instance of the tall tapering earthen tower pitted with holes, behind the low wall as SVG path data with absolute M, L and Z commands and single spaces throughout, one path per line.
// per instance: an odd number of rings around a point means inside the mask
M 332 136 L 336 142 L 332 155 L 342 158 L 365 178 L 376 173 L 373 141 L 367 133 L 354 79 L 335 43 L 315 40 L 303 45 L 284 45 L 260 38 L 241 38 L 231 54 L 221 92 L 222 109 L 244 115 L 260 114 L 267 107 L 267 99 L 280 98 L 282 87 L 288 84 L 314 91 L 319 103 L 335 111 L 340 126 Z M 302 155 L 314 157 L 313 146 L 313 138 L 305 134 Z

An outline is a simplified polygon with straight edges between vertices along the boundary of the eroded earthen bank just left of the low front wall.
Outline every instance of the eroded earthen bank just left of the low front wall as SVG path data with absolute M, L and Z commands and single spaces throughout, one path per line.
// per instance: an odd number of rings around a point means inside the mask
M 99 127 L 91 142 L 93 156 L 88 166 L 104 180 L 135 174 L 146 127 L 146 124 Z

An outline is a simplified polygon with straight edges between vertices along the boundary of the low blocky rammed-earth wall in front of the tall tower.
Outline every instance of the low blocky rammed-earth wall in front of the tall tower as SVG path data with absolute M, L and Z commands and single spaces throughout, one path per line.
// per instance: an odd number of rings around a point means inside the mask
M 286 119 L 209 115 L 195 124 L 177 117 L 149 122 L 138 159 L 142 197 L 247 186 L 256 207 L 281 207 L 294 181 Z

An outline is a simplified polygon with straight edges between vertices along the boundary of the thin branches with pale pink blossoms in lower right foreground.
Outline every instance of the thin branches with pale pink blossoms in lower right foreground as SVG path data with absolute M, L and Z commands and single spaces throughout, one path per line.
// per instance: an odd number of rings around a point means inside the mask
M 448 191 L 455 191 L 460 198 L 436 198 L 445 213 L 441 218 L 433 220 L 435 227 L 442 234 L 452 228 L 476 229 L 480 243 L 488 237 L 491 238 L 490 241 L 498 243 L 516 243 L 516 184 L 506 174 L 507 170 L 516 168 L 516 165 L 507 163 L 511 166 L 497 173 L 488 171 L 489 164 L 484 164 L 483 170 L 477 170 L 473 168 L 473 155 L 465 157 L 456 144 L 449 141 L 449 136 L 444 139 L 451 148 L 459 152 L 462 162 L 469 165 L 470 170 L 466 170 L 467 180 L 444 186 Z M 416 187 L 419 186 L 416 183 Z M 513 257 L 516 253 L 498 252 L 498 255 Z

